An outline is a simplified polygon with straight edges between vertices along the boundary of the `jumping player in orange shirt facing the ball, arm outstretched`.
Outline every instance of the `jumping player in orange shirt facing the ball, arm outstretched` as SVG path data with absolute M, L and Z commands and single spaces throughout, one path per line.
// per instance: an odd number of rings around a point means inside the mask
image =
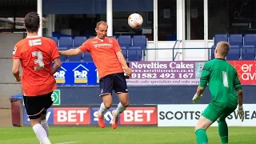
M 118 126 L 118 116 L 126 107 L 129 106 L 128 89 L 126 86 L 126 78 L 122 70 L 122 66 L 126 74 L 130 76 L 131 70 L 126 64 L 126 60 L 122 55 L 122 51 L 116 39 L 106 38 L 107 24 L 106 22 L 98 22 L 95 28 L 96 38 L 90 38 L 79 46 L 77 49 L 60 51 L 61 55 L 78 55 L 83 52 L 90 52 L 94 64 L 98 69 L 100 82 L 100 96 L 102 104 L 98 110 L 98 125 L 105 127 L 104 114 L 112 105 L 112 91 L 118 95 L 119 104 L 116 110 L 112 111 L 113 120 L 112 128 Z

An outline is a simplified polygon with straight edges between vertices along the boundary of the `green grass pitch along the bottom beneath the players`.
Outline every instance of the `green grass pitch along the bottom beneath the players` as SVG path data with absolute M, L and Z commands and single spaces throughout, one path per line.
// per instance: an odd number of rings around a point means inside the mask
M 256 143 L 255 127 L 230 127 L 230 144 Z M 219 144 L 218 128 L 207 130 L 210 144 Z M 195 142 L 194 127 L 50 127 L 50 141 L 54 144 L 192 144 Z M 31 127 L 0 128 L 1 144 L 38 144 Z

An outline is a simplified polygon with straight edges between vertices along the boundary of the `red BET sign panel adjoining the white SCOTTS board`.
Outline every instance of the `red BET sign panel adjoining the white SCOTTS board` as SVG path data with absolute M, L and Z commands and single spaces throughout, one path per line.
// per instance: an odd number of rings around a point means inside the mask
M 120 115 L 122 125 L 155 125 L 158 124 L 156 107 L 127 107 Z

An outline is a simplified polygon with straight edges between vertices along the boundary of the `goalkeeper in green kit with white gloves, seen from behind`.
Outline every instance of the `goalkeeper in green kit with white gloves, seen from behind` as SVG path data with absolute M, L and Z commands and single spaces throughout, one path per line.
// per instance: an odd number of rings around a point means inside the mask
M 206 129 L 216 120 L 222 143 L 228 143 L 228 128 L 225 119 L 236 110 L 237 106 L 240 118 L 242 121 L 244 119 L 242 85 L 234 66 L 225 60 L 229 50 L 228 42 L 218 42 L 214 50 L 215 59 L 206 62 L 202 68 L 200 84 L 192 100 L 194 103 L 199 102 L 207 83 L 211 98 L 210 104 L 203 111 L 197 126 L 195 126 L 198 144 L 208 144 Z

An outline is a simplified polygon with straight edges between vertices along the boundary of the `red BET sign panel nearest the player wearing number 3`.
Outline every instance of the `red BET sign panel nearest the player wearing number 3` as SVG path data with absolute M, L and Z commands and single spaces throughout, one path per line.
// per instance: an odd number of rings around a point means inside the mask
M 90 108 L 54 108 L 54 125 L 90 125 Z

